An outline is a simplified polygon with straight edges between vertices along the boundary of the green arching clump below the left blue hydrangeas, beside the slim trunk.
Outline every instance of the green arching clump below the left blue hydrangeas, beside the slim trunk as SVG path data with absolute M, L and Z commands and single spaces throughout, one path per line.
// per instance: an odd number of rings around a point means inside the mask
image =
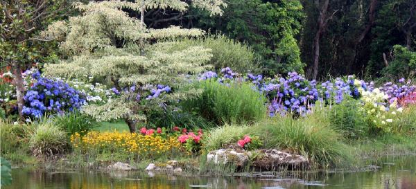
M 91 116 L 81 114 L 78 111 L 71 114 L 57 115 L 53 119 L 53 123 L 66 131 L 69 136 L 75 133 L 84 136 L 96 126 L 96 121 Z

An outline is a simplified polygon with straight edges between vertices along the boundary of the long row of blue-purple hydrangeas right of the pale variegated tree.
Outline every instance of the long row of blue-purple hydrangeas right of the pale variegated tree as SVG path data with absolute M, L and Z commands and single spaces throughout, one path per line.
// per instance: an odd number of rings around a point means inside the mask
M 254 90 L 263 93 L 268 98 L 268 114 L 270 117 L 280 114 L 304 115 L 311 111 L 317 101 L 320 105 L 340 104 L 347 98 L 359 99 L 363 91 L 373 91 L 374 82 L 358 80 L 354 75 L 344 78 L 335 78 L 325 82 L 306 80 L 303 75 L 290 72 L 286 77 L 263 78 L 262 75 L 241 75 L 231 69 L 224 68 L 216 74 L 212 71 L 200 74 L 198 80 L 217 80 L 229 85 L 230 82 L 251 82 Z M 415 85 L 410 85 L 403 78 L 399 84 L 388 82 L 380 87 L 388 98 L 383 103 L 385 106 L 395 102 L 398 98 L 416 91 Z

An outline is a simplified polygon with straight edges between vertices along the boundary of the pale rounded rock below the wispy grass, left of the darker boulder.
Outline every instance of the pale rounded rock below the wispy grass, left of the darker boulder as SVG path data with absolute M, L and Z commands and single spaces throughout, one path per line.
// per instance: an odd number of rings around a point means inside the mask
M 248 163 L 250 154 L 243 150 L 220 149 L 207 154 L 207 161 L 215 164 L 232 163 L 239 168 L 243 168 Z

